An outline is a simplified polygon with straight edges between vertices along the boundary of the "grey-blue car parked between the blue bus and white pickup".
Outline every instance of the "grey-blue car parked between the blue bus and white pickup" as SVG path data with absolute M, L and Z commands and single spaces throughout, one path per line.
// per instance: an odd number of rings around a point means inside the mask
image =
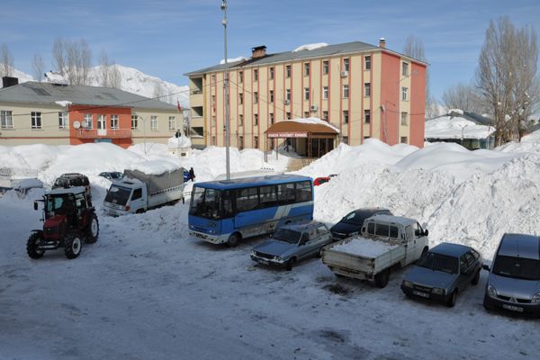
M 306 257 L 320 255 L 320 250 L 334 240 L 329 228 L 321 222 L 284 225 L 270 239 L 251 250 L 251 259 L 259 264 L 293 266 Z

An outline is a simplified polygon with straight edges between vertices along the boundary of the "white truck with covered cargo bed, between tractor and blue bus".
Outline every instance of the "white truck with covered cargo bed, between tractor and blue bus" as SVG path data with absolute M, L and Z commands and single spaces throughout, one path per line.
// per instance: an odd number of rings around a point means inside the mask
M 139 170 L 124 170 L 124 177 L 114 181 L 105 195 L 103 208 L 112 216 L 141 213 L 184 199 L 184 169 L 159 175 Z

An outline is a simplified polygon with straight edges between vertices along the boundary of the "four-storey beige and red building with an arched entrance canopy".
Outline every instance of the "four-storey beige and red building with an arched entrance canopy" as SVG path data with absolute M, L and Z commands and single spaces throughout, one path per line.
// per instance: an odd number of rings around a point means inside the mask
M 376 138 L 423 146 L 427 64 L 386 49 L 383 39 L 379 46 L 356 41 L 276 54 L 261 46 L 228 67 L 233 147 L 275 148 L 285 140 L 266 142 L 269 127 L 309 117 L 329 121 L 351 145 Z M 206 145 L 224 146 L 224 64 L 185 76 L 192 128 Z

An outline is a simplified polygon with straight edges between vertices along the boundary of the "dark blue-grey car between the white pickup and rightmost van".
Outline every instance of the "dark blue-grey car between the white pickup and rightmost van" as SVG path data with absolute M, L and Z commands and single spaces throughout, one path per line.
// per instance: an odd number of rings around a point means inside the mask
M 417 296 L 454 307 L 458 294 L 480 280 L 482 257 L 463 245 L 441 243 L 431 248 L 401 283 L 408 297 Z

